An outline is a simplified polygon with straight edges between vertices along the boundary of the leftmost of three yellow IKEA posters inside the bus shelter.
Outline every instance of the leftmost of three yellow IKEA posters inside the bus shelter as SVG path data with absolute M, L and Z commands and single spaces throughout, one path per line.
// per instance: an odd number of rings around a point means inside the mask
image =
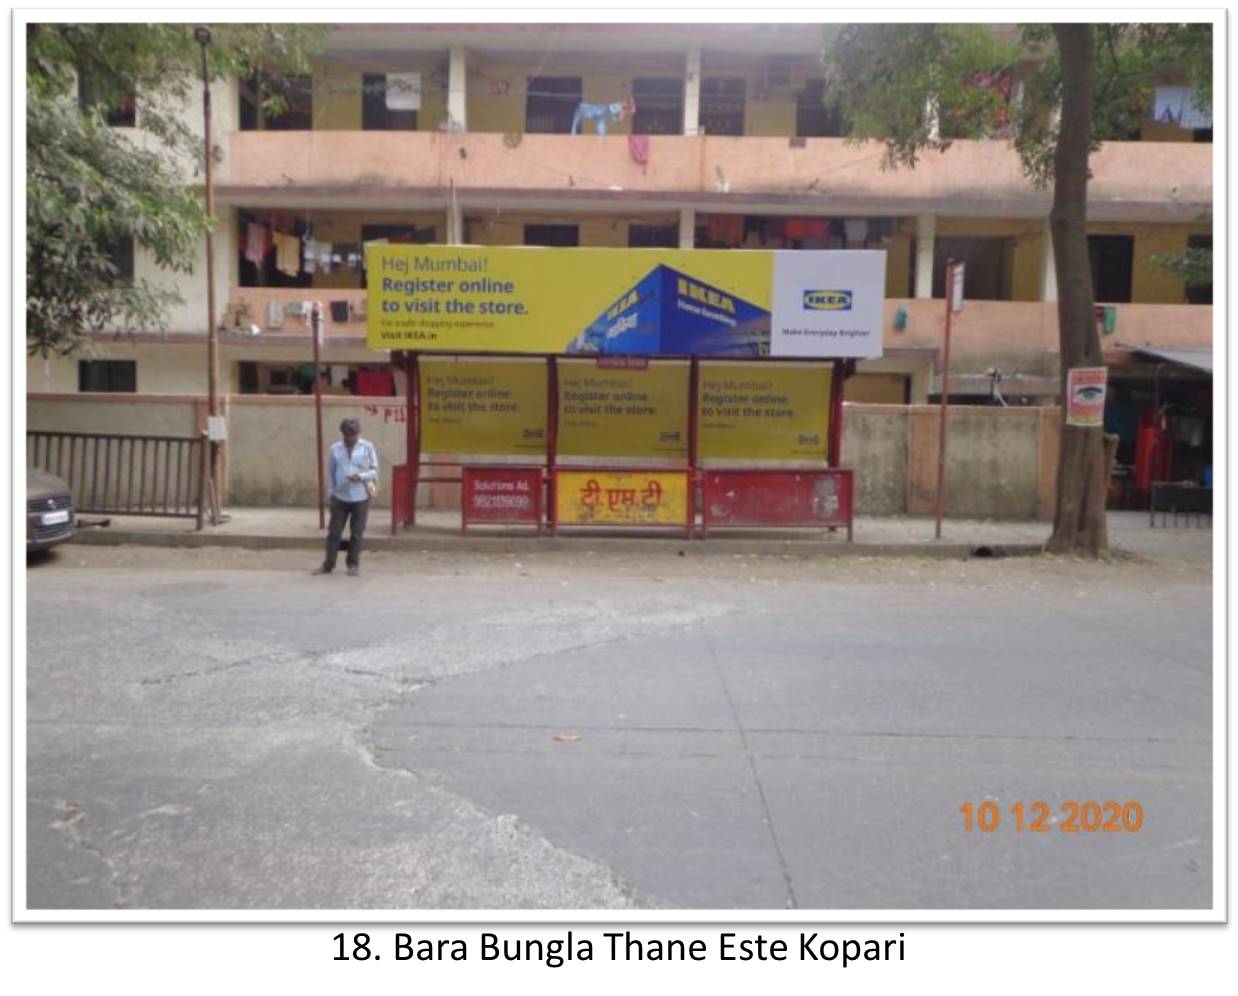
M 546 453 L 546 364 L 421 359 L 421 449 Z

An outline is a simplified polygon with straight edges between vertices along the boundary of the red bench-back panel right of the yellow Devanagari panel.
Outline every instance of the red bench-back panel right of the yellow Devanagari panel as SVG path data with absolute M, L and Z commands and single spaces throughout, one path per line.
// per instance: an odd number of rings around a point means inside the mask
M 852 538 L 851 470 L 707 470 L 711 526 L 846 526 Z

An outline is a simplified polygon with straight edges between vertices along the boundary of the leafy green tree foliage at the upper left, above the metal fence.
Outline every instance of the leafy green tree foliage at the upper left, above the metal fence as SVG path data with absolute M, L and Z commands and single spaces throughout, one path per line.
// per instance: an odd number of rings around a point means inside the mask
M 326 27 L 215 25 L 212 80 L 258 77 L 255 99 L 284 109 L 280 80 L 306 72 Z M 261 71 L 261 74 L 260 72 Z M 212 219 L 201 188 L 202 140 L 183 115 L 202 88 L 192 25 L 33 24 L 26 32 L 26 344 L 69 354 L 92 333 L 157 328 L 180 301 L 126 281 L 118 249 L 132 245 L 171 272 L 191 272 Z M 136 106 L 132 129 L 109 125 Z

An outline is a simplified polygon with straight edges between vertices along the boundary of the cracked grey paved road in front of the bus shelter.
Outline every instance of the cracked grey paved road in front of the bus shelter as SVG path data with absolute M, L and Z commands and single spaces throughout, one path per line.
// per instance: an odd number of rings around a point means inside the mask
M 32 907 L 1211 903 L 1202 544 L 310 565 L 28 567 Z M 1083 799 L 1143 828 L 1065 833 Z

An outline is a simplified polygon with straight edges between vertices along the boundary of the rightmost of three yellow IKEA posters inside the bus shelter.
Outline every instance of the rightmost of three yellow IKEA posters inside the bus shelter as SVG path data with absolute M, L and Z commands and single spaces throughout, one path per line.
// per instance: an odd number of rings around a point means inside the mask
M 704 459 L 825 460 L 827 364 L 702 363 L 697 445 Z

